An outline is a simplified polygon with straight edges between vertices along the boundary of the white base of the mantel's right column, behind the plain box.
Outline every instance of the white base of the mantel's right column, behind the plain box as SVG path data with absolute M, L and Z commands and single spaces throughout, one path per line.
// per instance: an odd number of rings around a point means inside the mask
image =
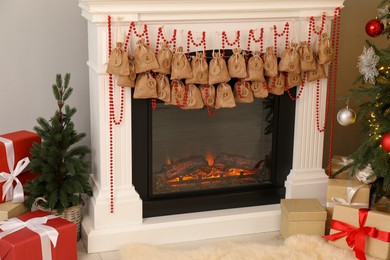
M 286 199 L 313 198 L 326 201 L 328 176 L 324 169 L 291 170 L 285 181 Z

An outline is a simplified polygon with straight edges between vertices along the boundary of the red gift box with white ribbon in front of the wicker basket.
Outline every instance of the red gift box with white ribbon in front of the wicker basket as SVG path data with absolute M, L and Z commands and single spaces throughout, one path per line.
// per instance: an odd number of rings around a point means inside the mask
M 15 230 L 9 224 L 7 227 L 7 223 L 12 221 L 28 225 Z M 10 233 L 10 229 L 14 232 Z M 43 234 L 43 230 L 47 233 Z M 38 234 L 40 232 L 42 234 Z M 0 222 L 0 238 L 2 260 L 46 260 L 50 259 L 50 255 L 53 260 L 77 259 L 76 224 L 43 211 L 29 212 Z

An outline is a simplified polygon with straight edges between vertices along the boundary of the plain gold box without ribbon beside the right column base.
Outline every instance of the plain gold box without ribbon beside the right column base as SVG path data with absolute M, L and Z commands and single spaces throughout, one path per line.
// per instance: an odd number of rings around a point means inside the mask
M 283 238 L 296 234 L 324 235 L 326 211 L 316 199 L 282 199 L 280 233 Z

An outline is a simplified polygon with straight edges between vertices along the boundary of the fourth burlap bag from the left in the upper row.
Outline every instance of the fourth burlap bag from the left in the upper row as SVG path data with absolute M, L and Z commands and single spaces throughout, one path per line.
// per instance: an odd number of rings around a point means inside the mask
M 172 57 L 171 80 L 189 78 L 192 78 L 191 64 L 183 52 L 183 47 L 178 47 Z

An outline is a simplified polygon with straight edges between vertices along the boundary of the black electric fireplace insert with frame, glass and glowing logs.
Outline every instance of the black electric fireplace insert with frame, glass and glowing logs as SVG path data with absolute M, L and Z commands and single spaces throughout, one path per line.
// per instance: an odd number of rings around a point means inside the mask
M 294 102 L 181 110 L 132 100 L 133 183 L 143 217 L 274 204 L 292 165 Z

